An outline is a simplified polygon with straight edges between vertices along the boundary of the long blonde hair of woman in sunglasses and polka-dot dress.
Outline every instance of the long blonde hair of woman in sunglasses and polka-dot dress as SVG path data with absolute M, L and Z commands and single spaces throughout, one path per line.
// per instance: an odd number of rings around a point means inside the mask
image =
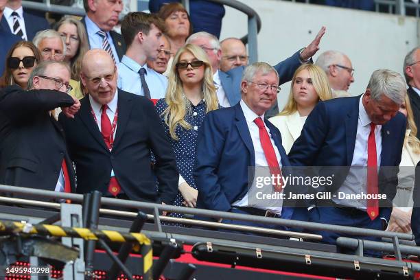
M 165 124 L 170 129 L 170 135 L 172 139 L 178 141 L 175 129 L 178 124 L 187 130 L 191 129 L 191 125 L 185 121 L 185 115 L 187 112 L 191 112 L 191 102 L 185 97 L 183 91 L 183 82 L 180 80 L 178 71 L 176 70 L 176 63 L 179 62 L 181 54 L 189 51 L 198 60 L 205 62 L 205 73 L 202 80 L 202 97 L 206 103 L 206 113 L 211 110 L 218 108 L 218 97 L 216 95 L 216 89 L 213 84 L 213 73 L 211 71 L 211 64 L 207 58 L 207 54 L 200 47 L 196 45 L 187 44 L 175 54 L 174 62 L 168 75 L 168 84 L 165 95 L 165 102 L 167 108 L 163 111 L 162 115 L 165 119 Z

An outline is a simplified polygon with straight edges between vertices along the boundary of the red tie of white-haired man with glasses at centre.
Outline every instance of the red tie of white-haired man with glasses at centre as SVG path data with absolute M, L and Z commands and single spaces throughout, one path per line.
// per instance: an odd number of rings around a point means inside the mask
M 270 173 L 272 175 L 275 175 L 275 178 L 280 178 L 279 184 L 274 185 L 275 191 L 281 192 L 283 191 L 283 178 L 281 177 L 281 169 L 279 166 L 279 161 L 277 161 L 277 156 L 275 153 L 274 148 L 272 147 L 272 143 L 270 140 L 270 135 L 268 135 L 268 132 L 266 130 L 266 126 L 264 126 L 264 121 L 261 119 L 261 117 L 257 117 L 254 120 L 255 124 L 258 126 L 259 131 L 259 141 L 261 142 L 261 146 L 264 150 L 264 154 L 266 156 L 266 160 L 268 163 L 268 167 L 270 168 Z M 279 177 L 277 176 L 279 175 Z

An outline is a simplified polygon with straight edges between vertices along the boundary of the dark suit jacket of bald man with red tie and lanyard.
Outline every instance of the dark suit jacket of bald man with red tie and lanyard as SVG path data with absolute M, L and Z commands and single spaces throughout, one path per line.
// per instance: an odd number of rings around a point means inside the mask
M 89 95 L 74 119 L 60 115 L 78 176 L 79 194 L 107 193 L 111 169 L 131 200 L 172 204 L 178 193 L 178 172 L 172 146 L 150 100 L 118 90 L 118 121 L 113 150 L 106 148 L 93 119 Z M 150 165 L 152 150 L 156 165 Z M 159 194 L 156 180 L 159 181 Z

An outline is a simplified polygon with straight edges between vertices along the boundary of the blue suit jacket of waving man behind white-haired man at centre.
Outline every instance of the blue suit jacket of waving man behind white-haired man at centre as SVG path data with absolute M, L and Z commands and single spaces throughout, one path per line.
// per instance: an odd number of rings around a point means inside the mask
M 293 78 L 294 71 L 301 66 L 301 60 L 299 59 L 299 51 L 290 58 L 279 62 L 279 64 L 275 65 L 275 69 L 277 73 L 279 73 L 279 84 L 284 84 L 285 82 L 289 82 Z M 227 72 L 223 72 L 219 70 L 219 77 L 220 82 L 222 83 L 224 93 L 226 93 L 226 97 L 229 101 L 231 106 L 240 102 L 242 95 L 241 95 L 241 79 L 242 73 L 244 73 L 244 66 L 235 67 Z M 266 118 L 274 117 L 279 113 L 279 106 L 277 102 L 275 106 L 270 108 L 266 112 Z

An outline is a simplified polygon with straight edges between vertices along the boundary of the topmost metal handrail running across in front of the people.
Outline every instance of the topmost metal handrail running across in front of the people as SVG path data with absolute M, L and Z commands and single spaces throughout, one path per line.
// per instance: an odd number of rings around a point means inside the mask
M 0 185 L 0 192 L 13 194 L 26 194 L 33 196 L 43 196 L 45 198 L 73 200 L 74 202 L 82 202 L 81 194 L 58 193 L 56 191 L 47 191 L 43 189 L 30 189 L 25 187 L 12 187 Z M 4 198 L 3 198 L 4 199 Z M 408 233 L 393 233 L 390 231 L 379 231 L 374 229 L 359 229 L 353 226 L 337 226 L 334 224 L 319 224 L 316 222 L 302 222 L 298 220 L 284 220 L 279 218 L 267 218 L 255 215 L 245 215 L 240 213 L 230 213 L 222 211 L 214 211 L 207 209 L 194 209 L 188 207 L 178 207 L 172 205 L 161 205 L 150 202 L 139 202 L 132 200 L 121 200 L 116 198 L 101 198 L 102 205 L 110 205 L 114 207 L 126 207 L 133 209 L 154 209 L 159 211 L 170 211 L 174 213 L 185 213 L 190 215 L 199 215 L 209 218 L 223 218 L 229 220 L 244 220 L 248 222 L 257 222 L 263 224 L 276 224 L 280 226 L 289 226 L 291 228 L 303 228 L 314 231 L 334 231 L 336 233 L 347 233 L 349 235 L 375 236 L 393 238 L 397 236 L 401 240 L 414 240 L 414 236 Z

